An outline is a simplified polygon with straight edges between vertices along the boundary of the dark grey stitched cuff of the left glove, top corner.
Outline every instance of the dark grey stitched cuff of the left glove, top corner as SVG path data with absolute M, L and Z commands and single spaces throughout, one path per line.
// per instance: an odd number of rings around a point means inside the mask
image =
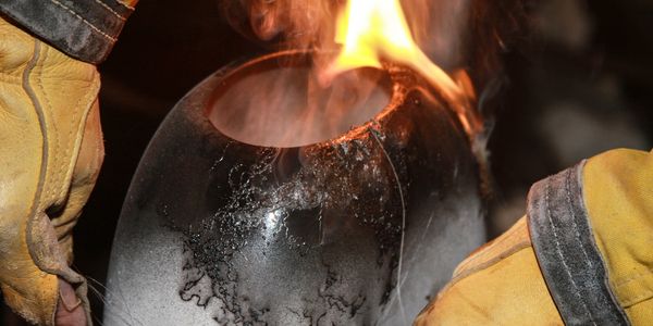
M 84 62 L 109 55 L 137 0 L 2 0 L 0 13 Z

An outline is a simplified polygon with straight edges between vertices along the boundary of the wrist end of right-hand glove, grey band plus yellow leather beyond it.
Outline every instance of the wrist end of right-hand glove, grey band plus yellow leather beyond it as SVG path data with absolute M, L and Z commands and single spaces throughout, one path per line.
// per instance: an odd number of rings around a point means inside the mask
M 653 152 L 612 150 L 535 184 L 528 225 L 565 324 L 653 319 Z

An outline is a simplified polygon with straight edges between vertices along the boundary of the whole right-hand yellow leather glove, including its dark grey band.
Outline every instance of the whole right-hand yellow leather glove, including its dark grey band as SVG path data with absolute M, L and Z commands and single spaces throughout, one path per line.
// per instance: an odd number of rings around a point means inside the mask
M 527 217 L 464 261 L 415 325 L 652 322 L 653 152 L 621 149 L 535 184 Z

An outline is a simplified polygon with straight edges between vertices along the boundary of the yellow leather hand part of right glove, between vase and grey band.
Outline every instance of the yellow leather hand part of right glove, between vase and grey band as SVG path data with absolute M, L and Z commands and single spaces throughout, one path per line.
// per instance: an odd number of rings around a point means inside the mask
M 526 217 L 465 260 L 415 325 L 563 325 Z

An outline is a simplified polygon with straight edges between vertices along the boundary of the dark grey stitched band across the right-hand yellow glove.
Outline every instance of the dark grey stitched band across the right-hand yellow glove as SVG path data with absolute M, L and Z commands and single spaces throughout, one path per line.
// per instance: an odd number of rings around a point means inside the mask
M 582 197 L 584 161 L 534 184 L 528 226 L 551 297 L 567 325 L 629 325 L 608 286 Z

